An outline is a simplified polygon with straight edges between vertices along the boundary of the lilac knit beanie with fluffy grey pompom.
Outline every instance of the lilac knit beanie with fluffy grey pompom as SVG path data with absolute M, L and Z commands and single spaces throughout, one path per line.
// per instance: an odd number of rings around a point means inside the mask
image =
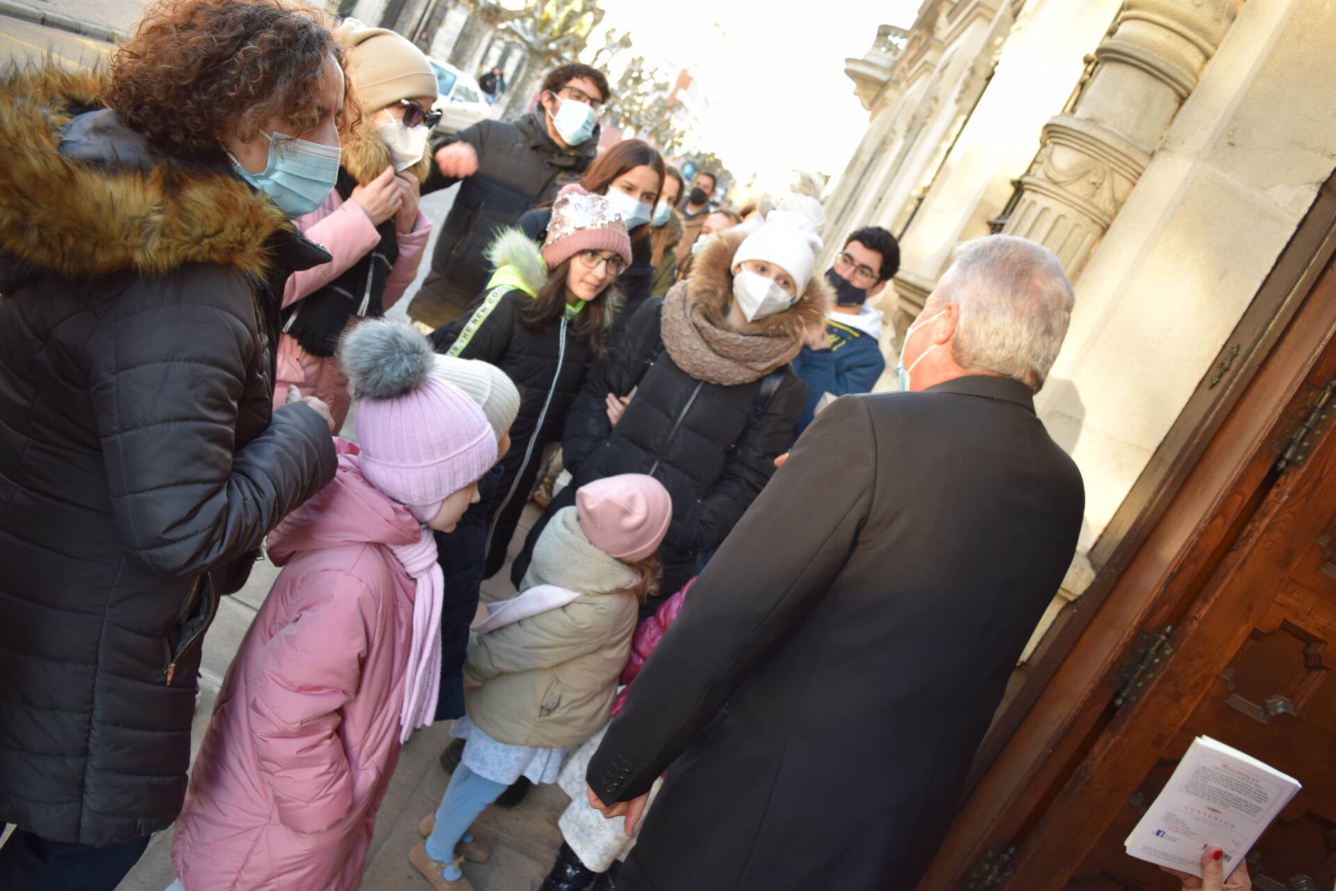
M 358 401 L 353 425 L 362 474 L 422 522 L 497 460 L 482 409 L 432 373 L 434 358 L 417 329 L 387 319 L 359 322 L 339 347 Z

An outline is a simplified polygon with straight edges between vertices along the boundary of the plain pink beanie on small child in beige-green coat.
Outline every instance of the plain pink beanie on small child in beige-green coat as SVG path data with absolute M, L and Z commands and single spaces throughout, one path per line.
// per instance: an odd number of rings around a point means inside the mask
M 664 540 L 672 520 L 672 497 L 643 473 L 604 477 L 576 493 L 580 528 L 595 548 L 624 562 L 644 560 Z

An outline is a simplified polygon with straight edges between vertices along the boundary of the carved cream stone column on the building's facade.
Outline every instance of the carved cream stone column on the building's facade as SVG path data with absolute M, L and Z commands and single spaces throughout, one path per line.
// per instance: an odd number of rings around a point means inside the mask
M 1075 281 L 1178 112 L 1242 0 L 1126 0 L 1002 230 L 1053 250 Z

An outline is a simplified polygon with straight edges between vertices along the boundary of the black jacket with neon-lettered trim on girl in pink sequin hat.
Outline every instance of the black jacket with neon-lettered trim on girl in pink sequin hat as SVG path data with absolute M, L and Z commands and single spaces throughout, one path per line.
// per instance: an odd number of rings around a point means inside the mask
M 545 282 L 537 244 L 520 230 L 509 230 L 490 252 L 498 269 L 489 289 L 465 315 L 432 334 L 437 351 L 490 362 L 520 390 L 510 450 L 500 462 L 504 473 L 488 478 L 481 501 L 461 521 L 488 524 L 484 578 L 505 564 L 510 537 L 542 466 L 544 446 L 560 441 L 592 358 L 568 333 L 566 319 L 534 331 L 520 317 Z

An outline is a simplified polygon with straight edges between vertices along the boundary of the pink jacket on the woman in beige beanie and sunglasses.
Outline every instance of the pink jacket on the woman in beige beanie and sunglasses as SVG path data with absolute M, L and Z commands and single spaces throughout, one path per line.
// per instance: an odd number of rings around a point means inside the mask
M 366 211 L 354 202 L 345 202 L 337 191 L 330 192 L 323 204 L 295 222 L 307 238 L 323 244 L 334 259 L 305 273 L 294 273 L 283 289 L 283 309 L 337 279 L 381 240 Z M 418 263 L 422 262 L 430 234 L 432 223 L 421 212 L 411 232 L 397 234 L 399 256 L 385 278 L 385 294 L 381 297 L 386 310 L 403 297 L 405 289 L 417 277 Z M 335 423 L 343 426 L 349 406 L 347 381 L 343 379 L 334 357 L 311 355 L 298 346 L 294 338 L 283 334 L 278 339 L 275 381 L 275 407 L 287 401 L 289 385 L 295 385 L 302 395 L 323 399 L 330 406 Z

